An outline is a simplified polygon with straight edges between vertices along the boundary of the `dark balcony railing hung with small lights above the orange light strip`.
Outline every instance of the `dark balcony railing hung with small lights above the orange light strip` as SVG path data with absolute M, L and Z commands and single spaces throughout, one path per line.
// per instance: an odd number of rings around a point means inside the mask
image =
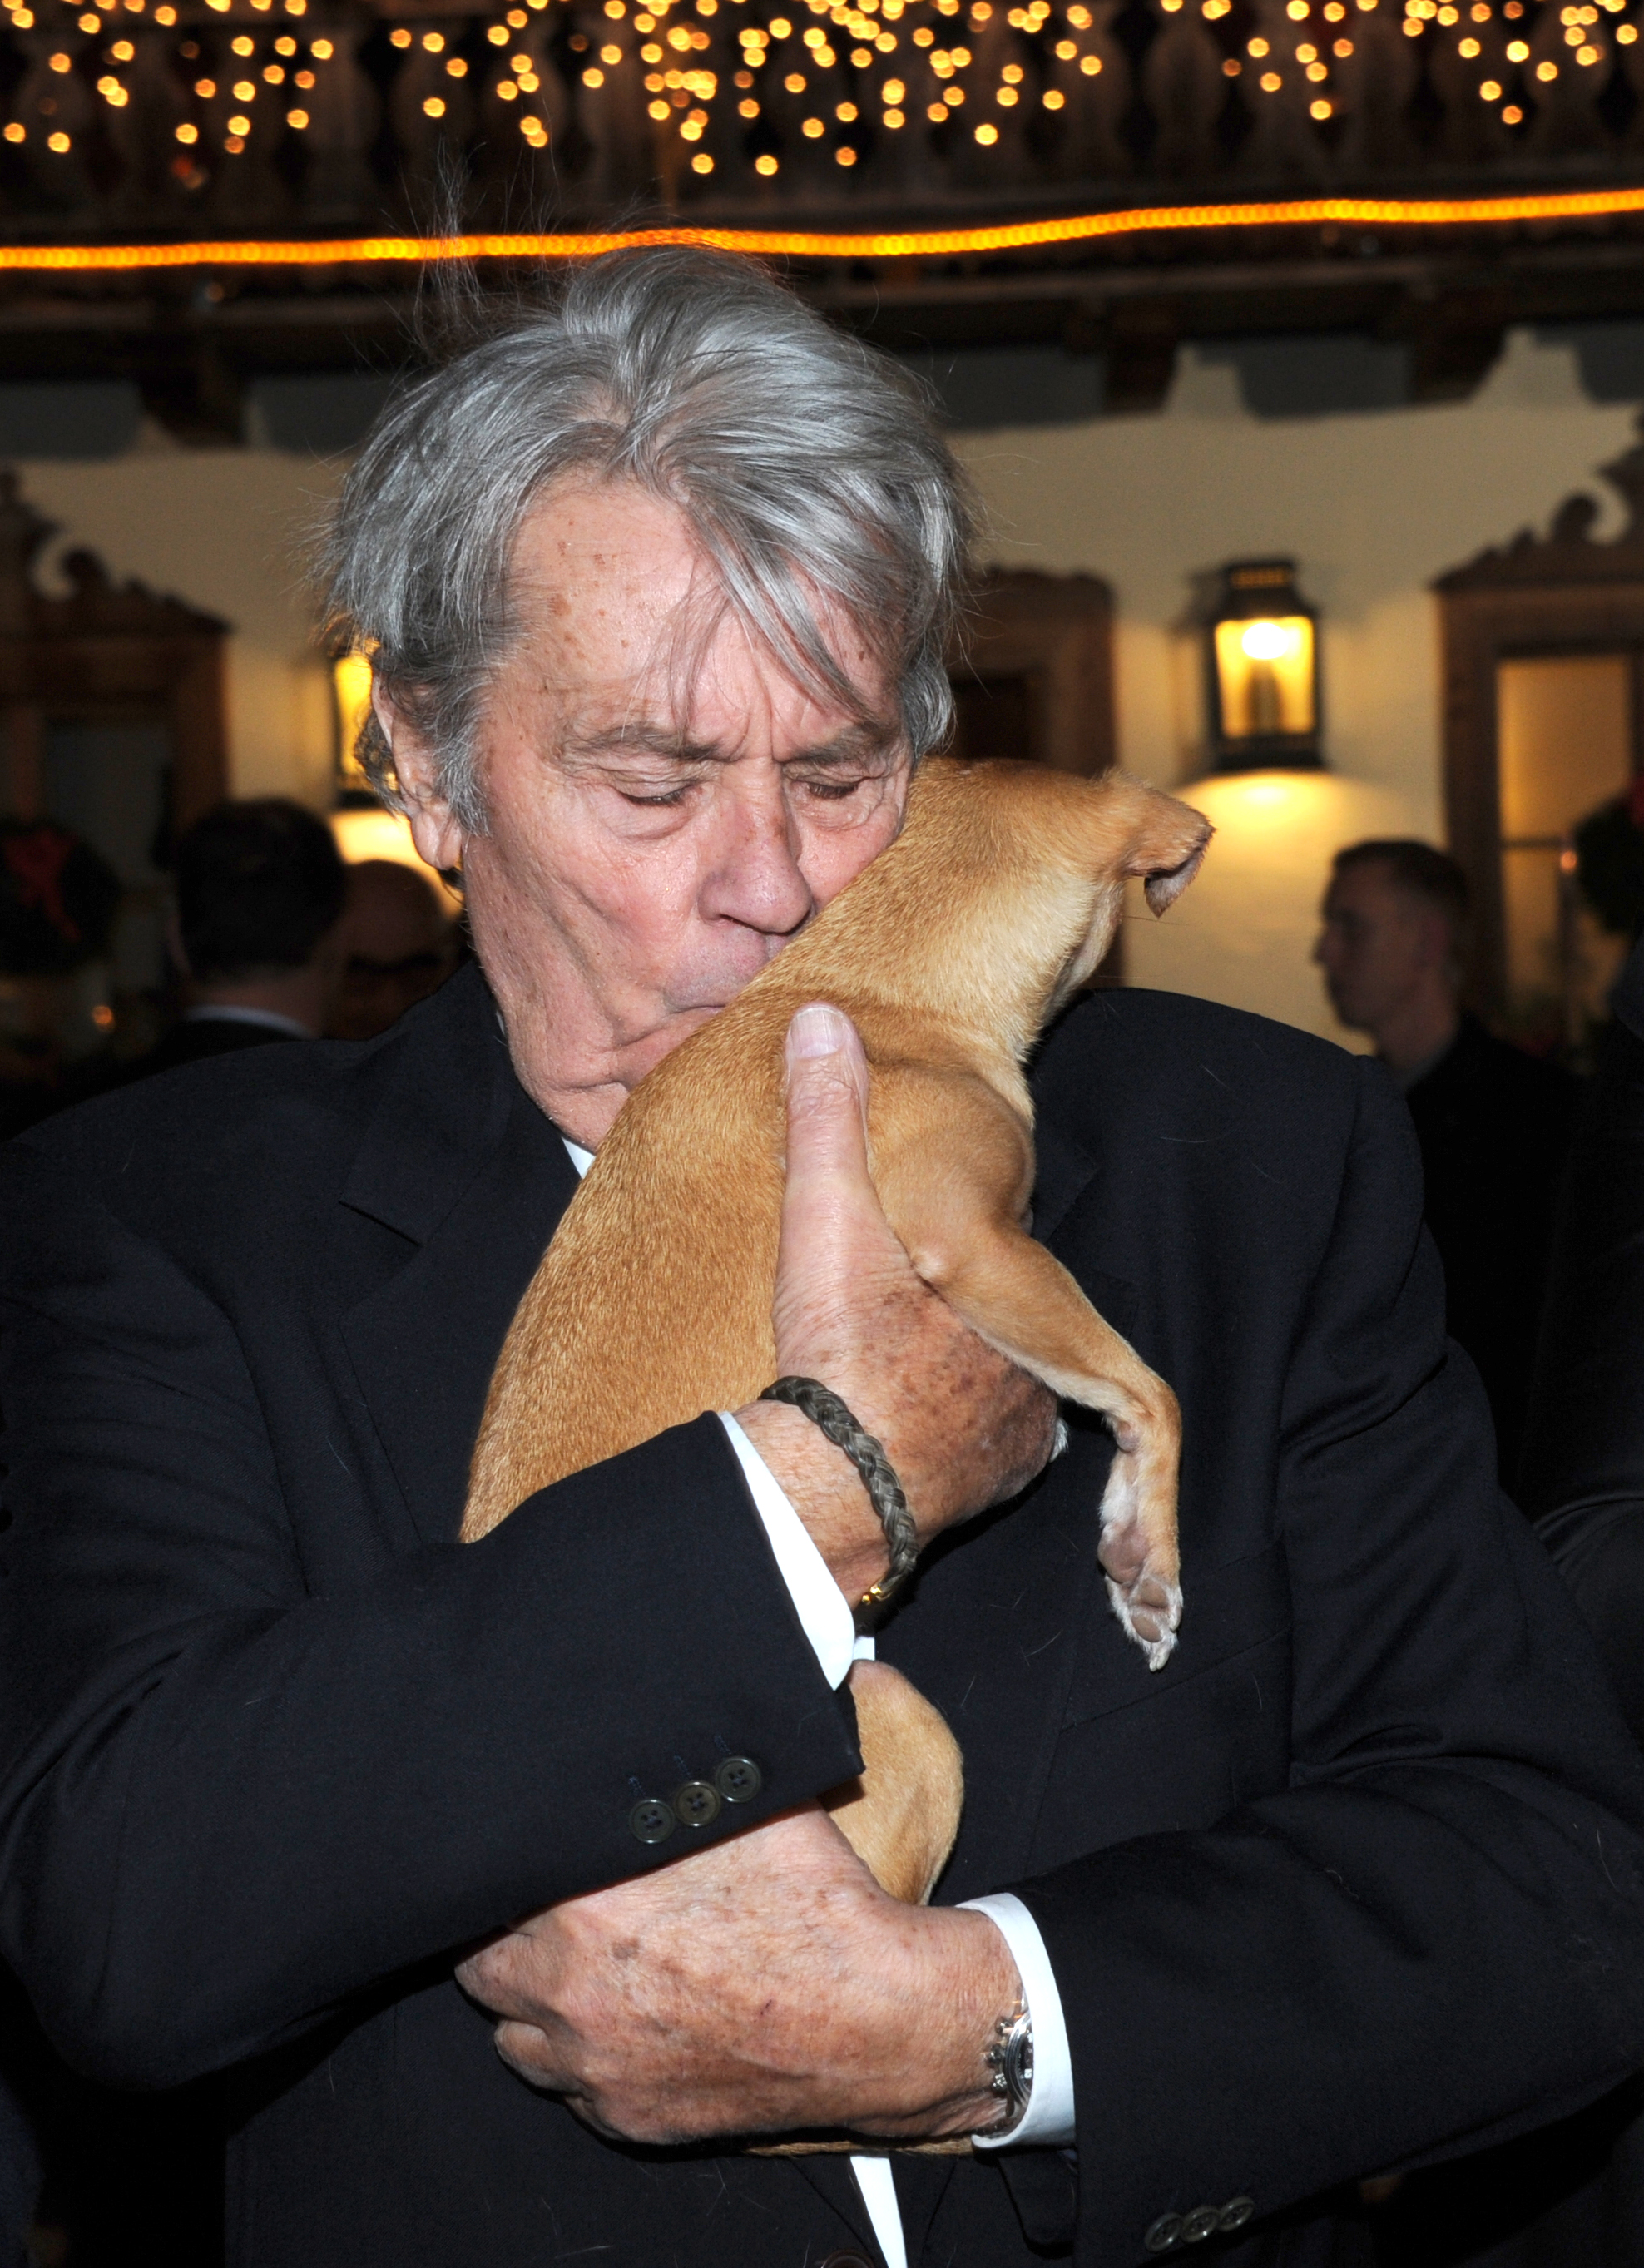
M 0 240 L 1644 179 L 1639 0 L 7 0 Z

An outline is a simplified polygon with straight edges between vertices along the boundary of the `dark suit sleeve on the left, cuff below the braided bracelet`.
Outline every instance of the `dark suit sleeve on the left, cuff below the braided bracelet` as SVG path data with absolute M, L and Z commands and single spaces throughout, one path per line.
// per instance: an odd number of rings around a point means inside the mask
M 313 1594 L 224 1313 L 0 1168 L 0 1950 L 70 2062 L 222 2068 L 673 1857 L 635 1805 L 732 1755 L 703 1835 L 859 1769 L 714 1417 Z

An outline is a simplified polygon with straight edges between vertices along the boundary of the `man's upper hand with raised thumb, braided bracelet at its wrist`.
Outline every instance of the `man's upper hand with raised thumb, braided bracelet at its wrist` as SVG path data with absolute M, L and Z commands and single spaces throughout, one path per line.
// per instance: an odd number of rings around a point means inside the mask
M 916 1275 L 868 1175 L 866 1105 L 855 1027 L 834 1007 L 803 1007 L 787 1034 L 776 1359 L 832 1386 L 878 1436 L 925 1545 L 1032 1481 L 1057 1406 Z M 855 1467 L 785 1404 L 755 1402 L 737 1420 L 855 1603 L 887 1569 Z

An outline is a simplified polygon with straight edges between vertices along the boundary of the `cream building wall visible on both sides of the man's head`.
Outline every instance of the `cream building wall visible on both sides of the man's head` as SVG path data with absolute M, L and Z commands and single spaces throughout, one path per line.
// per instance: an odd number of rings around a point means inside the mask
M 1204 875 L 1129 928 L 1132 982 L 1254 1007 L 1342 1039 L 1308 966 L 1329 855 L 1363 835 L 1442 839 L 1435 603 L 1429 583 L 1544 524 L 1633 438 L 1594 408 L 1569 347 L 1515 333 L 1454 408 L 1256 420 L 1236 372 L 1181 356 L 1156 417 L 959 435 L 1002 565 L 1095 572 L 1118 594 L 1122 760 L 1190 785 L 1218 826 Z M 229 744 L 240 794 L 331 787 L 329 685 L 308 628 L 304 549 L 338 469 L 274 449 L 184 451 L 145 429 L 102 463 L 23 467 L 59 542 L 234 624 Z M 1617 519 L 1610 490 L 1605 524 Z M 1324 615 L 1324 778 L 1202 780 L 1188 578 L 1293 553 Z

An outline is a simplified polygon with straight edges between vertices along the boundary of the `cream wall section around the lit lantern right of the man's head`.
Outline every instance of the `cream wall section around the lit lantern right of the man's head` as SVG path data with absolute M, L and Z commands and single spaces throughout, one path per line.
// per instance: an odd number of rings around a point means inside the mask
M 1512 333 L 1472 401 L 1256 420 L 1224 363 L 1188 349 L 1159 417 L 964 435 L 1009 567 L 1107 576 L 1118 596 L 1120 755 L 1188 787 L 1218 826 L 1163 923 L 1127 930 L 1129 975 L 1345 1039 L 1308 966 L 1331 850 L 1365 835 L 1442 841 L 1433 576 L 1544 524 L 1633 440 L 1594 408 L 1569 347 Z M 1603 533 L 1619 506 L 1603 483 Z M 1202 780 L 1188 578 L 1288 553 L 1322 608 L 1329 778 Z

